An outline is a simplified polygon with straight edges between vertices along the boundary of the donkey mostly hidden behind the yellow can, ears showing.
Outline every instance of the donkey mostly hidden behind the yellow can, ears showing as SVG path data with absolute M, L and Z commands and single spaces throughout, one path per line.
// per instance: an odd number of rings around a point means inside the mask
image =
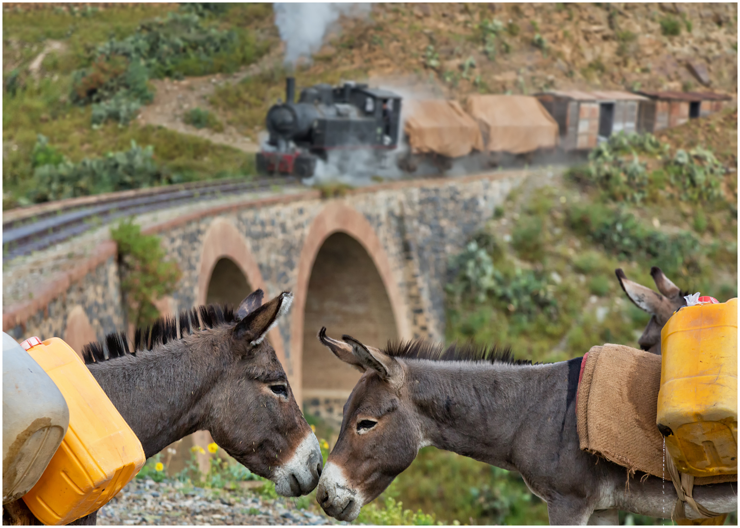
M 653 316 L 647 322 L 642 336 L 637 339 L 638 345 L 644 351 L 660 354 L 660 331 L 673 312 L 686 305 L 684 295 L 688 295 L 687 292 L 681 291 L 657 266 L 650 268 L 650 275 L 660 293 L 637 282 L 632 282 L 622 268 L 615 270 L 615 273 L 616 278 L 619 279 L 619 285 L 622 286 L 622 290 L 625 291 L 630 301 Z

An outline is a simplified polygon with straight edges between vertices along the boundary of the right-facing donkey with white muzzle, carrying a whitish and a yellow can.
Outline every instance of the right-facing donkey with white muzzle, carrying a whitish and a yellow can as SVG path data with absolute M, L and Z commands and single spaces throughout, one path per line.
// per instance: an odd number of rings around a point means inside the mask
M 265 305 L 262 297 L 253 292 L 236 313 L 210 305 L 181 312 L 179 324 L 161 319 L 151 332 L 137 331 L 134 353 L 124 334 L 111 334 L 107 357 L 101 343 L 86 345 L 84 356 L 147 458 L 209 430 L 226 453 L 274 481 L 277 493 L 306 495 L 321 474 L 321 450 L 265 339 L 292 294 Z M 73 524 L 95 524 L 96 517 Z

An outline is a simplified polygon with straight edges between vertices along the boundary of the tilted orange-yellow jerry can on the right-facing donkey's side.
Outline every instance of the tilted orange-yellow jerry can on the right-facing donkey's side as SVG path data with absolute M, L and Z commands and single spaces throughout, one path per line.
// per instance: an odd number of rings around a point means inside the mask
M 77 353 L 58 337 L 29 341 L 28 353 L 67 401 L 70 425 L 23 500 L 42 523 L 68 524 L 110 501 L 146 458 L 141 442 Z

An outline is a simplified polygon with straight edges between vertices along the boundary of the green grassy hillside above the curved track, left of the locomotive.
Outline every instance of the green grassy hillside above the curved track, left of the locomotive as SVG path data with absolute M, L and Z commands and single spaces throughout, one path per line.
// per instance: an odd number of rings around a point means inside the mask
M 175 180 L 253 173 L 253 157 L 237 149 L 129 123 L 138 106 L 149 101 L 150 76 L 233 71 L 255 61 L 268 47 L 257 30 L 272 15 L 269 4 L 206 10 L 196 21 L 189 14 L 192 8 L 172 14 L 177 7 L 138 4 L 105 10 L 93 7 L 69 12 L 60 7 L 3 13 L 4 209 L 27 203 L 34 186 L 32 155 L 38 134 L 72 163 L 127 150 L 133 140 L 152 146 L 155 162 L 178 175 Z M 206 43 L 215 44 L 192 44 L 162 70 L 160 49 L 149 42 L 157 31 L 170 39 L 195 42 L 202 36 Z M 30 63 L 51 39 L 59 41 L 58 46 L 32 74 Z M 228 45 L 217 45 L 221 41 Z M 144 42 L 149 50 L 143 57 L 149 65 L 141 71 L 133 67 L 138 64 L 132 61 L 133 55 L 127 55 L 130 44 L 137 42 Z M 207 71 L 198 70 L 204 64 Z

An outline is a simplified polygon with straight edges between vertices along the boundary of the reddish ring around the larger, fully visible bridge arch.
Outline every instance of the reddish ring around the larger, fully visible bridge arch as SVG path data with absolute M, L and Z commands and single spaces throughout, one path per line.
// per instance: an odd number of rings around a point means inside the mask
M 293 367 L 291 385 L 296 387 L 294 392 L 298 395 L 303 393 L 303 380 L 301 369 L 303 367 L 303 319 L 306 309 L 306 296 L 309 291 L 309 280 L 314 267 L 316 256 L 323 246 L 324 241 L 334 233 L 349 234 L 357 240 L 367 251 L 372 263 L 377 269 L 383 287 L 386 289 L 388 300 L 391 304 L 393 319 L 400 339 L 411 339 L 411 326 L 408 323 L 408 306 L 401 294 L 398 283 L 388 260 L 386 250 L 375 230 L 368 220 L 356 209 L 346 203 L 334 201 L 329 203 L 317 216 L 309 228 L 309 234 L 303 242 L 298 264 L 298 275 L 295 286 L 295 300 L 293 302 L 291 316 L 292 339 L 290 340 L 290 361 Z M 318 328 L 316 329 L 318 331 Z M 300 403 L 299 403 L 300 405 Z

